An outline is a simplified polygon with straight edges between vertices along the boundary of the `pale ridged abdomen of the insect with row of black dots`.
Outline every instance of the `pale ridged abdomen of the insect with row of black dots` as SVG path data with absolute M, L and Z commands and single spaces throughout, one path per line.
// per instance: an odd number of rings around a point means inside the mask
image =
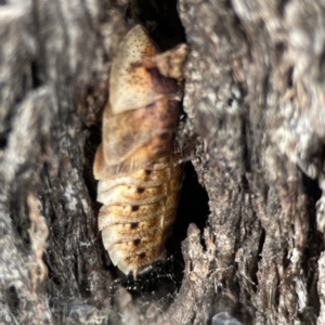
M 182 182 L 182 166 L 174 162 L 179 158 L 173 154 L 151 168 L 99 182 L 104 247 L 125 274 L 136 276 L 164 252 Z

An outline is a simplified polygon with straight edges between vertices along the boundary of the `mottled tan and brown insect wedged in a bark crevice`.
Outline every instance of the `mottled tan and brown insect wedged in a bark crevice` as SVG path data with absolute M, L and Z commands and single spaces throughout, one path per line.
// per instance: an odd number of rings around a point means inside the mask
M 184 44 L 159 54 L 140 25 L 112 64 L 94 176 L 99 227 L 115 265 L 134 276 L 164 257 L 182 182 L 174 151 Z

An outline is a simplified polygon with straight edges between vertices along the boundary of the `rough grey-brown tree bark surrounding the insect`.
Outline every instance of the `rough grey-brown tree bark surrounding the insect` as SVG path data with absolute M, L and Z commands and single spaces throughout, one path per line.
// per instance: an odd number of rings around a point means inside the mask
M 96 224 L 109 64 L 135 23 L 186 39 L 179 144 L 209 199 L 168 285 L 121 278 Z M 325 324 L 323 0 L 0 0 L 0 43 L 1 324 Z

